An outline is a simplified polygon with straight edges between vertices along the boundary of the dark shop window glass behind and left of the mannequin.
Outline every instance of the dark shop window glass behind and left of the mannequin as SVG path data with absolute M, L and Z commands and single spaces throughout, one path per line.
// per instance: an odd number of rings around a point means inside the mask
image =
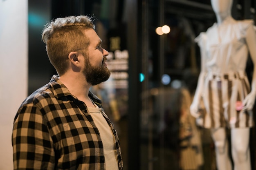
M 232 15 L 236 20 L 255 20 L 254 7 L 255 2 L 234 0 Z M 140 169 L 216 170 L 210 131 L 198 126 L 189 111 L 201 64 L 195 38 L 216 22 L 211 0 L 143 0 L 141 15 L 145 80 L 141 92 Z M 249 79 L 252 70 L 249 60 Z M 229 146 L 230 137 L 227 129 Z M 251 135 L 250 141 L 254 139 Z M 255 146 L 251 144 L 250 148 L 254 167 Z

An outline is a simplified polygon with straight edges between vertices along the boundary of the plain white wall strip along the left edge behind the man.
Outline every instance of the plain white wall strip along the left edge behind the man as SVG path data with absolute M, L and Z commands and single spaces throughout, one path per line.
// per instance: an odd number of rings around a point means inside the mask
M 0 170 L 13 170 L 13 118 L 27 96 L 28 0 L 0 0 Z

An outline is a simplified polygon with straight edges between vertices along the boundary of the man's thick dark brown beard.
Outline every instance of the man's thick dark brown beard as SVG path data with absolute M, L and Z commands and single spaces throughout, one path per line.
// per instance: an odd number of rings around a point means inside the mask
M 110 77 L 110 71 L 104 65 L 92 66 L 89 62 L 85 64 L 83 73 L 86 77 L 86 81 L 92 86 L 105 82 Z

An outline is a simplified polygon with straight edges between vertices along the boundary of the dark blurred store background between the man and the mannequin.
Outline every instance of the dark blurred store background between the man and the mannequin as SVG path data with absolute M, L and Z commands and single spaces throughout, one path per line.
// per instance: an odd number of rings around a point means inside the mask
M 52 18 L 94 16 L 110 52 L 110 79 L 92 91 L 119 134 L 125 170 L 216 170 L 209 131 L 189 114 L 200 72 L 194 39 L 216 22 L 211 0 L 29 0 L 29 89 L 56 74 L 41 31 Z M 256 1 L 234 0 L 232 16 L 256 18 Z M 157 35 L 157 27 L 170 32 Z M 247 74 L 252 76 L 252 62 Z M 28 94 L 28 95 L 29 95 Z M 250 137 L 256 169 L 255 128 Z

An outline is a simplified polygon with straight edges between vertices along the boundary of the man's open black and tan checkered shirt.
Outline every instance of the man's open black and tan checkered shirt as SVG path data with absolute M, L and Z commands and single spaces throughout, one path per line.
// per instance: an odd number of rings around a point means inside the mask
M 119 170 L 123 170 L 117 132 L 101 100 L 89 96 L 115 135 Z M 13 124 L 14 170 L 105 170 L 102 139 L 86 108 L 55 75 L 27 97 Z

